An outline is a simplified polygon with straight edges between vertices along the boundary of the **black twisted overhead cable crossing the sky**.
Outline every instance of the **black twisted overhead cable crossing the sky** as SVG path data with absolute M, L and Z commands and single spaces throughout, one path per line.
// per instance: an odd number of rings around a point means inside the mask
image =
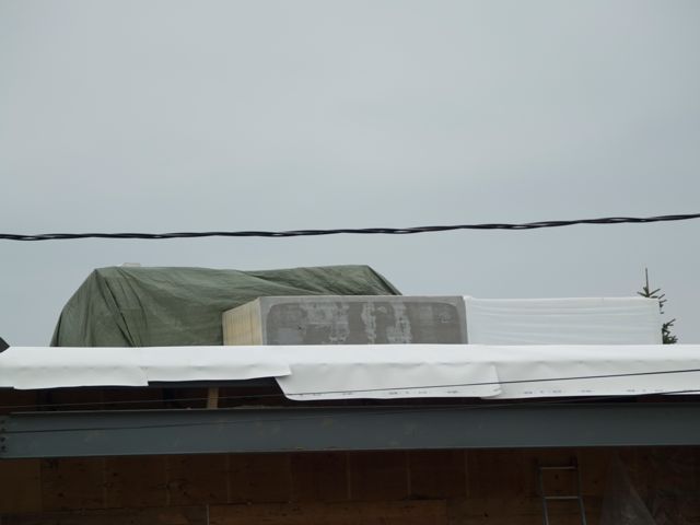
M 173 233 L 44 233 L 22 235 L 0 233 L 5 241 L 68 241 L 75 238 L 195 238 L 195 237 L 308 237 L 316 235 L 337 235 L 341 233 L 363 235 L 406 235 L 410 233 L 450 232 L 453 230 L 537 230 L 541 228 L 573 226 L 575 224 L 639 224 L 648 222 L 670 222 L 700 219 L 700 213 L 658 215 L 658 217 L 605 217 L 600 219 L 576 219 L 572 221 L 540 221 L 485 224 L 450 224 L 439 226 L 413 228 L 341 228 L 335 230 L 290 230 L 290 231 L 222 231 L 222 232 L 173 232 Z

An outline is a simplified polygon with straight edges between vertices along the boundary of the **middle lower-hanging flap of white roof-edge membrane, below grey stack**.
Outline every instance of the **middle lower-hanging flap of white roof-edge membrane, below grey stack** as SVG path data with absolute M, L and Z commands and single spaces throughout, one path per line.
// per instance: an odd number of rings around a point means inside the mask
M 497 368 L 467 345 L 267 347 L 291 374 L 278 377 L 290 399 L 491 397 Z

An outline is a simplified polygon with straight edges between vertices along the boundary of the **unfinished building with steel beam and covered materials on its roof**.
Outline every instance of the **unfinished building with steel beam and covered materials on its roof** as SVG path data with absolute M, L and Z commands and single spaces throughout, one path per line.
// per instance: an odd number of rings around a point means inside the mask
M 0 353 L 1 523 L 695 524 L 698 371 L 642 298 L 105 268 Z

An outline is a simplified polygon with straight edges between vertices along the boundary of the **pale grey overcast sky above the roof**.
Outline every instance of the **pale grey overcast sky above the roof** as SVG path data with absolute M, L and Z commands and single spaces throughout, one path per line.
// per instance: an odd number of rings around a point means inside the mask
M 0 231 L 700 211 L 700 2 L 0 0 Z M 95 267 L 369 264 L 404 293 L 632 295 L 700 342 L 700 221 L 292 240 L 0 241 L 0 336 Z

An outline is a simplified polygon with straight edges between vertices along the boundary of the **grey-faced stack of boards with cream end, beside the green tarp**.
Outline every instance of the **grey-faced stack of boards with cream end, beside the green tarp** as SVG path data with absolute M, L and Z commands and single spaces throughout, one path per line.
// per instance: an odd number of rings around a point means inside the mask
M 223 314 L 224 345 L 466 343 L 460 296 L 259 298 Z

